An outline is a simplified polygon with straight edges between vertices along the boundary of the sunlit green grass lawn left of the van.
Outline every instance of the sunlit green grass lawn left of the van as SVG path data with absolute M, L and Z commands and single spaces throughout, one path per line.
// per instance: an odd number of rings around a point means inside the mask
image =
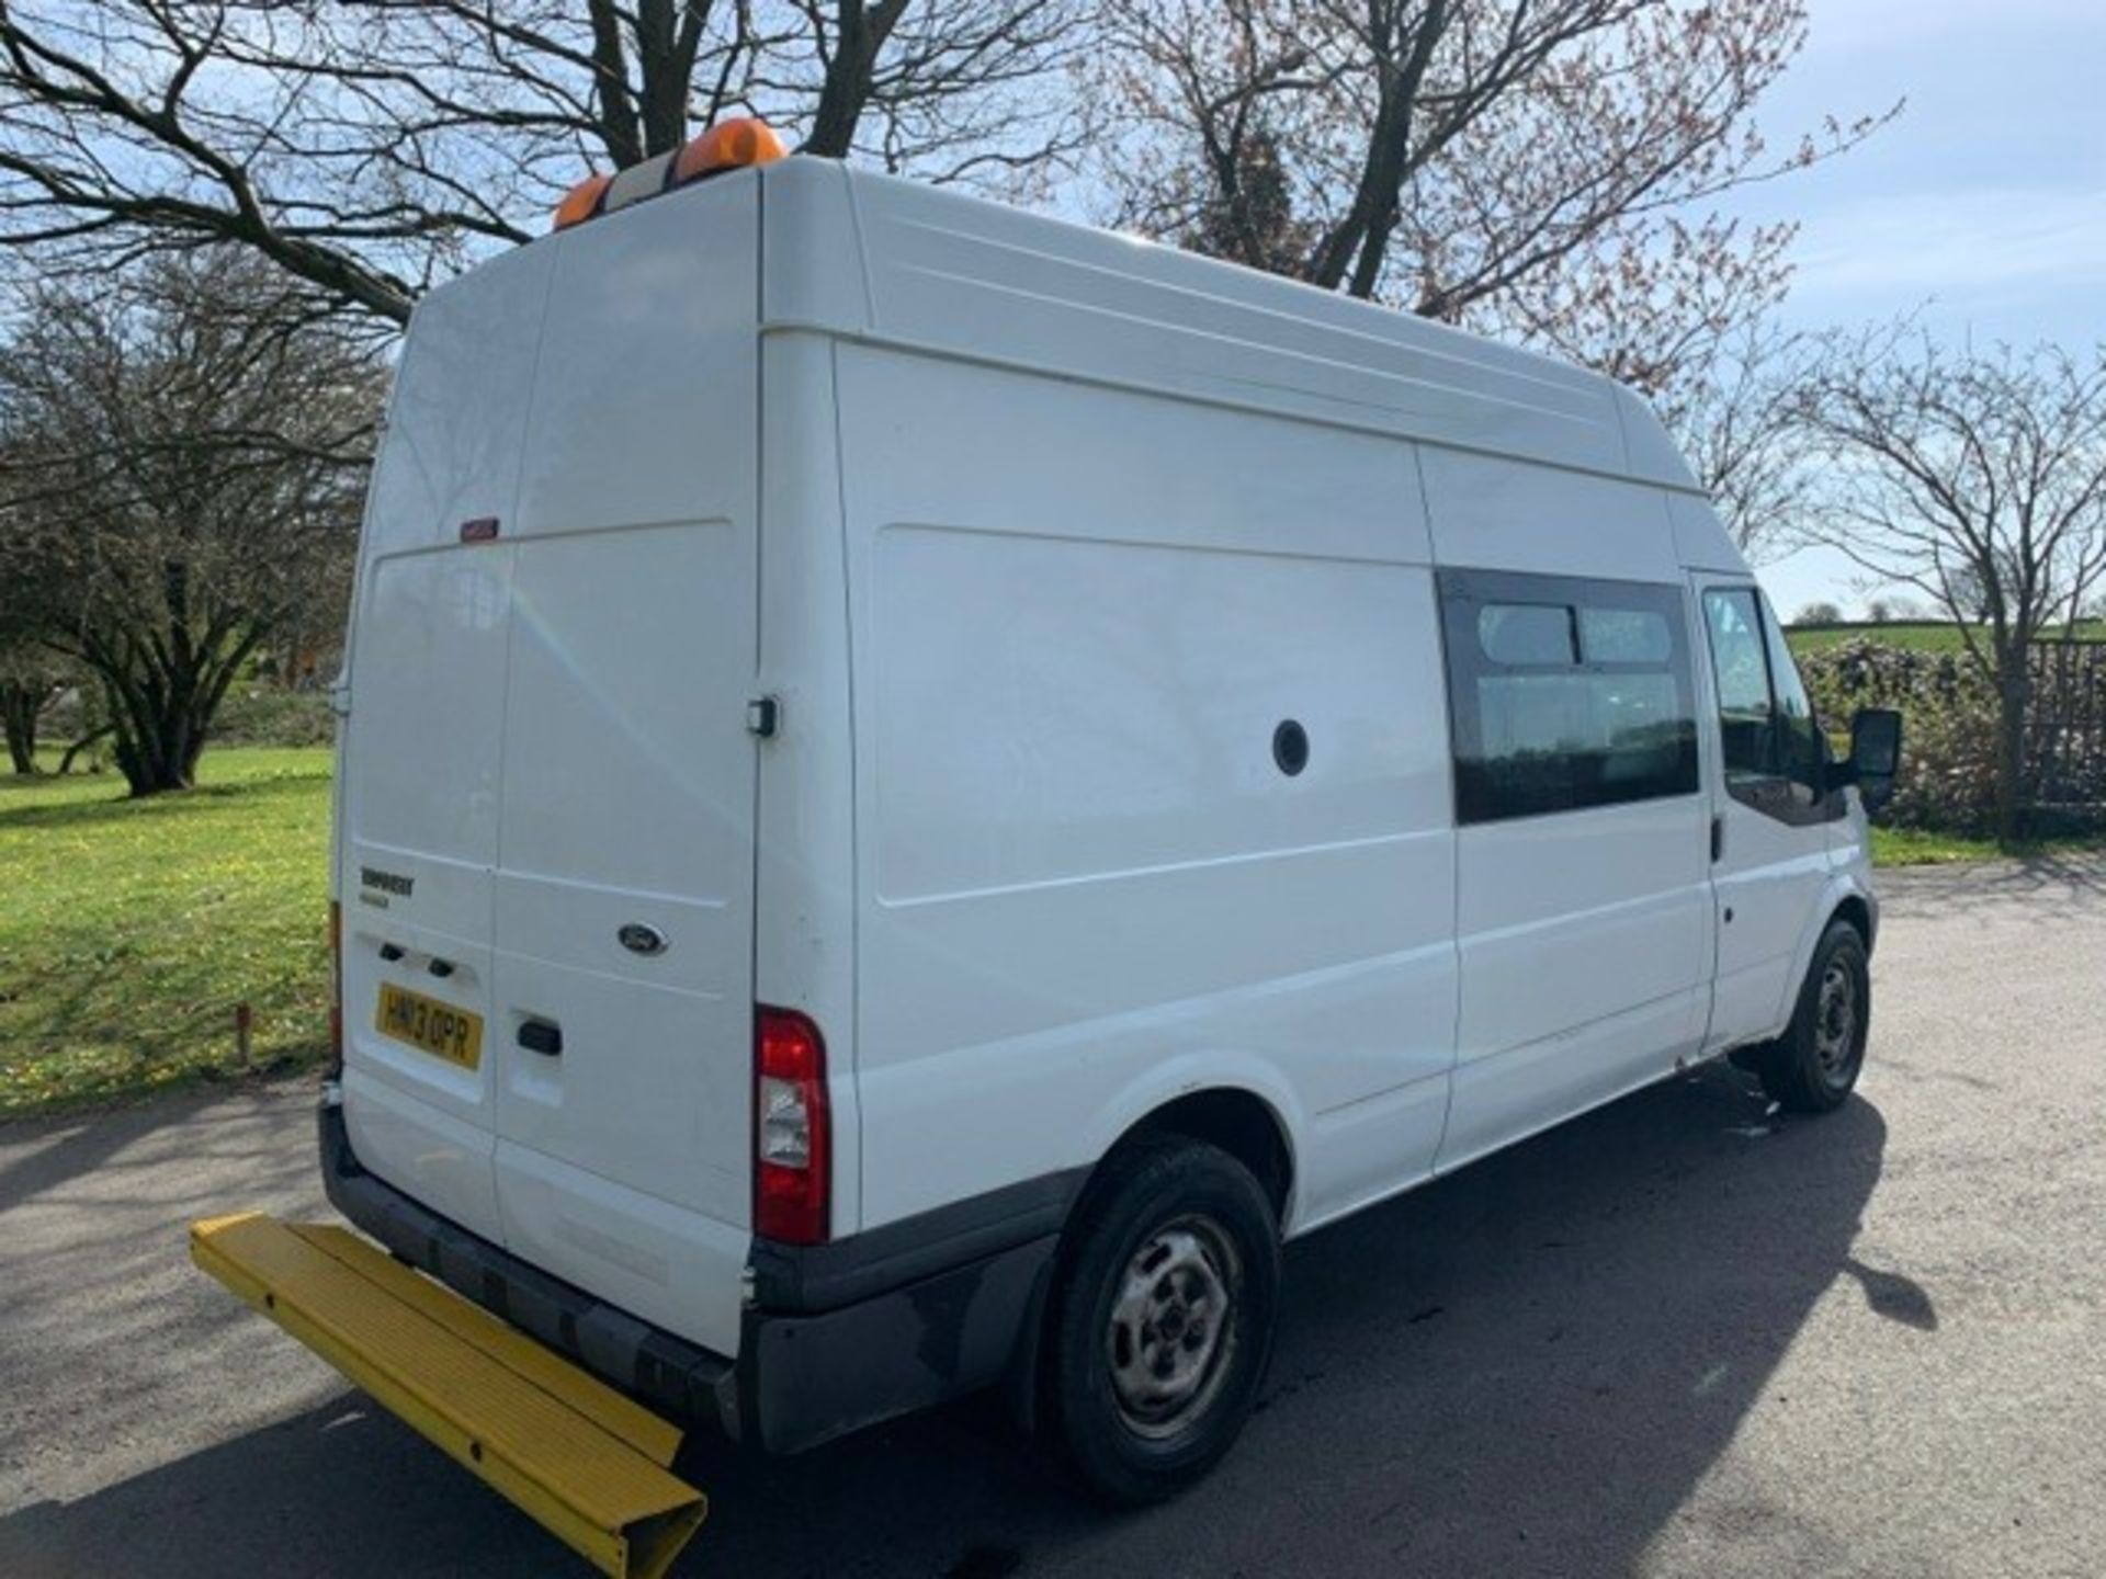
M 0 775 L 0 1118 L 236 1072 L 329 1038 L 329 749 L 208 749 L 187 794 Z

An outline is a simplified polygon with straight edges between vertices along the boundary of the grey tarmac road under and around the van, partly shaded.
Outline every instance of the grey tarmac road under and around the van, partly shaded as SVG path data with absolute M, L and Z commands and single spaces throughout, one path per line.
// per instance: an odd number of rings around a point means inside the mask
M 965 1404 L 712 1440 L 682 1575 L 2106 1573 L 2106 863 L 1898 874 L 1860 1097 L 1641 1093 L 1289 1251 L 1261 1413 L 1108 1516 Z M 310 1091 L 0 1128 L 0 1575 L 573 1575 L 194 1272 Z

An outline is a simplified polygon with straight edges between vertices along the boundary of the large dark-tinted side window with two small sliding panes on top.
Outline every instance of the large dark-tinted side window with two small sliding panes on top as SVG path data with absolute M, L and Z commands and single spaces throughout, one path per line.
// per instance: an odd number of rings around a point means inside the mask
M 1445 571 L 1441 606 L 1457 821 L 1695 794 L 1674 587 Z

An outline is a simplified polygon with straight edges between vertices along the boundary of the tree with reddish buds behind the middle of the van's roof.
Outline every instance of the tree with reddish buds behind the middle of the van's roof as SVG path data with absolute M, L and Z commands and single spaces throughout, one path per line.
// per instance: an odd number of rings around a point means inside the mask
M 1756 135 L 1805 0 L 1108 0 L 1108 32 L 1091 82 L 1135 122 L 1097 168 L 1120 223 L 1266 267 L 1236 238 L 1278 229 L 1283 183 L 1293 274 L 1449 322 L 1598 318 L 1721 259 L 1771 278 L 1786 229 L 1691 204 L 1876 124 L 1784 154 Z

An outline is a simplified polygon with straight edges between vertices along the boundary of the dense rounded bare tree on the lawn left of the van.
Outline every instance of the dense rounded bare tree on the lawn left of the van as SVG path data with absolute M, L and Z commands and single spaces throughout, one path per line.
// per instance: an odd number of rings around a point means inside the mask
M 101 686 L 133 794 L 192 783 L 272 629 L 341 598 L 383 373 L 246 255 L 44 288 L 0 349 L 0 558 Z

